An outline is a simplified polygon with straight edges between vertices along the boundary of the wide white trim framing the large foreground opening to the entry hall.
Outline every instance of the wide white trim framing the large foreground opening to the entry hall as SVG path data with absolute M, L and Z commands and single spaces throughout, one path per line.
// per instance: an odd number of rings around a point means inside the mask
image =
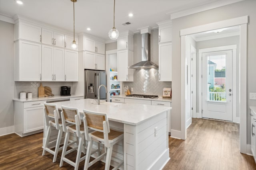
M 240 108 L 240 152 L 247 152 L 247 24 L 248 16 L 242 16 L 238 18 L 232 18 L 229 20 L 222 20 L 214 23 L 208 23 L 205 25 L 199 25 L 196 27 L 190 27 L 180 30 L 180 40 L 181 40 L 181 89 L 180 89 L 180 114 L 181 114 L 181 139 L 186 139 L 186 117 L 185 117 L 185 89 L 186 89 L 186 35 L 191 35 L 194 33 L 200 33 L 204 31 L 210 31 L 214 29 L 220 29 L 224 27 L 232 27 L 240 25 L 240 55 L 239 55 L 239 108 Z M 243 69 L 240 69 L 243 68 Z

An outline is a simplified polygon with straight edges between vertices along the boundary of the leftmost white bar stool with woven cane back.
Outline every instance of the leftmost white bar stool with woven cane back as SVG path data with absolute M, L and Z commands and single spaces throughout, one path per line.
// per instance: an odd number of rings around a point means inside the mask
M 60 119 L 60 114 L 59 114 L 57 105 L 44 103 L 44 117 L 45 117 L 48 130 L 46 135 L 46 141 L 43 145 L 42 156 L 44 156 L 45 152 L 47 151 L 54 155 L 52 162 L 56 162 L 58 151 L 62 150 L 62 147 L 60 147 L 60 141 L 62 139 L 62 132 L 63 132 L 62 121 Z M 54 118 L 54 120 L 50 120 L 51 118 Z M 58 130 L 58 137 L 57 137 L 57 140 L 49 142 L 50 135 L 52 132 L 52 126 Z M 48 146 L 51 146 L 51 144 L 55 142 L 56 142 L 55 150 L 50 149 Z

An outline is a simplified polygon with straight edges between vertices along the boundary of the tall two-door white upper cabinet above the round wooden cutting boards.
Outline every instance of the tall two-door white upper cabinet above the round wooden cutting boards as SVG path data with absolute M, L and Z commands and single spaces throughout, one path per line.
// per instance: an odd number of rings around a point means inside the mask
M 64 49 L 42 45 L 42 81 L 64 81 Z

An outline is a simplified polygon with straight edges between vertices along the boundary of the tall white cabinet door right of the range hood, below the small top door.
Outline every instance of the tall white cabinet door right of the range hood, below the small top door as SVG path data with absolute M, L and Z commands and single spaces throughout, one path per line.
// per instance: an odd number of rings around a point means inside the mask
M 159 45 L 159 81 L 172 81 L 172 43 Z

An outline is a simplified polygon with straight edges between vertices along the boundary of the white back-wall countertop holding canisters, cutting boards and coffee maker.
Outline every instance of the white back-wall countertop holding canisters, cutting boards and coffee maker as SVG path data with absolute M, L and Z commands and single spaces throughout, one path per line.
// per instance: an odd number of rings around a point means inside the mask
M 67 99 L 67 98 L 77 98 L 77 97 L 83 97 L 84 95 L 77 95 L 72 94 L 71 96 L 49 96 L 49 97 L 42 97 L 42 98 L 26 98 L 26 99 L 13 99 L 17 102 L 33 102 L 33 101 L 40 101 L 40 100 L 58 100 L 58 99 Z

